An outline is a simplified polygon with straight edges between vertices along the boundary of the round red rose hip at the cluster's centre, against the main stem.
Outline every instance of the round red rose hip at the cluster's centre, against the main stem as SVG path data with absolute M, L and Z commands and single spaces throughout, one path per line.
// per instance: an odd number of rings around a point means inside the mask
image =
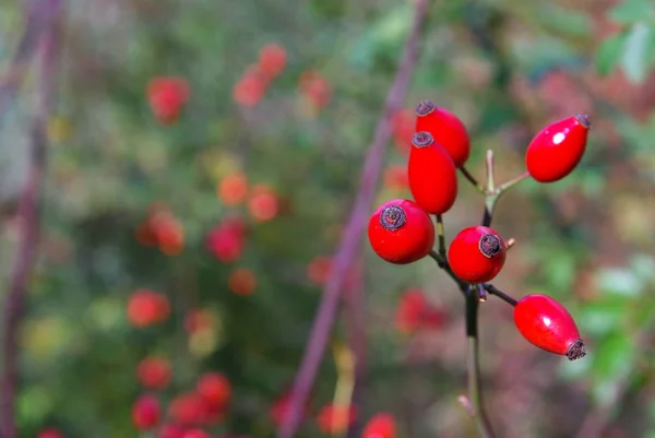
M 504 264 L 507 246 L 493 229 L 471 226 L 462 229 L 448 249 L 448 262 L 460 280 L 485 283 Z

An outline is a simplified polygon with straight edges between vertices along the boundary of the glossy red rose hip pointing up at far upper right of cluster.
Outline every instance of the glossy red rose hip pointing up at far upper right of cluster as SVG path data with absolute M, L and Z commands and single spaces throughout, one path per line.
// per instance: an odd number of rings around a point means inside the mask
M 544 128 L 525 152 L 529 175 L 539 182 L 553 182 L 572 173 L 586 149 L 591 126 L 587 115 L 576 114 Z

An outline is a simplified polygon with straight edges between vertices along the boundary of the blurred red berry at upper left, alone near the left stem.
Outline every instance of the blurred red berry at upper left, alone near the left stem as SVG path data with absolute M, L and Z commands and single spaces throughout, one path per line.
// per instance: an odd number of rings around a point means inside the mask
M 158 76 L 147 84 L 146 94 L 155 118 L 162 125 L 170 125 L 189 99 L 189 84 L 182 78 Z

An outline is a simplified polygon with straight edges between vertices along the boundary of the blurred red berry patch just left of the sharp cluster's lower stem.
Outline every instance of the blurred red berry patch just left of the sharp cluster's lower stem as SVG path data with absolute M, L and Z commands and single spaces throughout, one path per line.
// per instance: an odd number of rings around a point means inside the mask
M 403 333 L 418 329 L 443 327 L 445 313 L 428 303 L 420 289 L 408 289 L 401 296 L 395 313 L 395 325 Z

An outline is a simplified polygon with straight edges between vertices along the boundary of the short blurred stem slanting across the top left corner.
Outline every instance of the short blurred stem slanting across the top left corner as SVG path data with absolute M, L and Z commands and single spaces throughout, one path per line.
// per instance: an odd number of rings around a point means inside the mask
M 44 3 L 48 3 L 48 0 L 32 0 L 26 2 L 23 35 L 19 39 L 7 72 L 0 79 L 0 118 L 15 97 L 29 67 L 29 61 L 36 51 L 38 42 L 43 33 L 48 28 L 50 11 Z

